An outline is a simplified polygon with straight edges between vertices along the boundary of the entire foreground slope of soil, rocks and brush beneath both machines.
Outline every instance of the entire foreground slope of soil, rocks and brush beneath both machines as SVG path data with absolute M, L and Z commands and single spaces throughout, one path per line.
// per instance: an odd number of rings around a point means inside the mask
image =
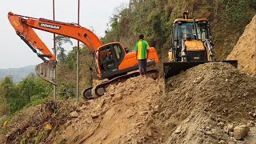
M 19 114 L 22 122 L 11 122 L 7 137 L 0 138 L 7 143 L 254 143 L 255 81 L 222 62 L 168 79 L 166 93 L 162 79 L 130 78 L 95 100 L 46 102 L 30 117 Z

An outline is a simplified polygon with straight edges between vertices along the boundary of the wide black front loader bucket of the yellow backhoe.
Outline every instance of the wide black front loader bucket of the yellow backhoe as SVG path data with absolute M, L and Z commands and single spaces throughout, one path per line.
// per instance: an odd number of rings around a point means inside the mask
M 164 76 L 165 81 L 174 76 L 179 74 L 181 71 L 186 71 L 190 69 L 191 67 L 198 66 L 200 64 L 210 62 L 210 61 L 194 61 L 194 62 L 164 62 L 163 63 L 163 70 L 164 70 Z M 238 61 L 237 60 L 230 60 L 230 61 L 214 61 L 214 62 L 228 62 L 234 67 L 238 67 Z

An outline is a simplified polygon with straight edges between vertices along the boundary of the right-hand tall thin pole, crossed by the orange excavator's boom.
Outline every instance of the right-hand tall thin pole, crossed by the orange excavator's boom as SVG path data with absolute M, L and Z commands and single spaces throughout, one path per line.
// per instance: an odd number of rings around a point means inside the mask
M 80 22 L 80 0 L 78 0 L 78 26 Z M 78 52 L 77 52 L 77 102 L 79 101 L 79 40 L 78 40 Z

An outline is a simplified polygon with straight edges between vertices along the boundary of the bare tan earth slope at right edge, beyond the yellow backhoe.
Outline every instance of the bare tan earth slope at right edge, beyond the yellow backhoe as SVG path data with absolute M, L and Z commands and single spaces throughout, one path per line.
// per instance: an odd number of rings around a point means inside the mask
M 239 70 L 256 74 L 256 16 L 246 26 L 246 30 L 227 59 L 237 59 Z

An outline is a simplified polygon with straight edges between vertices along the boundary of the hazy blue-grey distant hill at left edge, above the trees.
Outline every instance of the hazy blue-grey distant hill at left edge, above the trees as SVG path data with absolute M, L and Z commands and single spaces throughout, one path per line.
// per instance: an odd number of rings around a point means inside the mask
M 21 68 L 0 69 L 0 80 L 6 76 L 12 76 L 13 81 L 18 83 L 22 81 L 22 78 L 26 78 L 28 74 L 34 73 L 34 67 L 25 66 Z

